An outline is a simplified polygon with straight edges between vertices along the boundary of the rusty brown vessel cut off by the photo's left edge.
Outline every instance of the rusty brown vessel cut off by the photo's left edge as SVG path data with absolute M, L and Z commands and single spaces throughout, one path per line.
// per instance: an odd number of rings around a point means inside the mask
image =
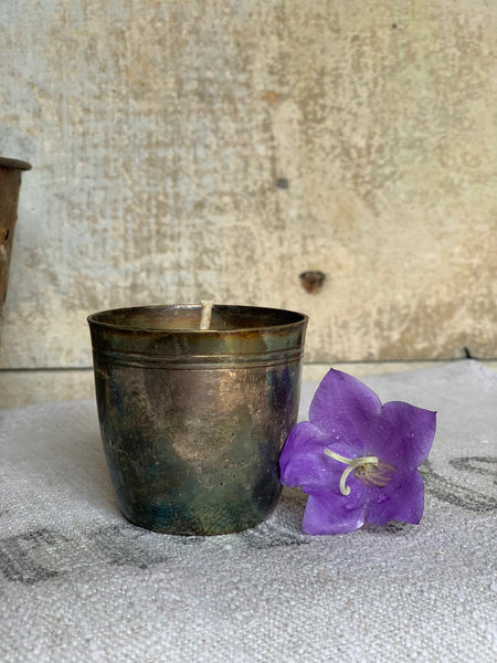
M 18 220 L 19 189 L 21 172 L 29 170 L 30 164 L 0 157 L 0 337 L 2 334 L 3 304 L 9 284 L 9 267 L 12 243 Z

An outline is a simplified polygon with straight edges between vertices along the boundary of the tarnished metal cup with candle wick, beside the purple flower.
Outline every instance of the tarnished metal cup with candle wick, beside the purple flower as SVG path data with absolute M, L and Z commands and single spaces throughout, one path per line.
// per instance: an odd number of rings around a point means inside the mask
M 102 439 L 125 516 L 183 535 L 262 523 L 281 493 L 307 316 L 147 306 L 88 317 Z

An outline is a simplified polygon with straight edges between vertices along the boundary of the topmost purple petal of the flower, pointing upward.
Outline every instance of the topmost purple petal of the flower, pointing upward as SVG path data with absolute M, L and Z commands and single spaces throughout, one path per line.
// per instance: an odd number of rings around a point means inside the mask
M 331 440 L 350 444 L 363 455 L 378 428 L 381 401 L 374 391 L 352 376 L 329 370 L 309 408 L 310 421 Z

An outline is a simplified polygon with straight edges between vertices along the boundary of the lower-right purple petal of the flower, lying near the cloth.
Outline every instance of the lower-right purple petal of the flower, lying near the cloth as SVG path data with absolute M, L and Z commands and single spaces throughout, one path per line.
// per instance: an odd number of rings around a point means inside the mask
M 387 525 L 390 520 L 417 525 L 424 508 L 423 477 L 417 470 L 396 473 L 383 488 L 371 491 L 371 497 L 366 517 L 371 525 Z

